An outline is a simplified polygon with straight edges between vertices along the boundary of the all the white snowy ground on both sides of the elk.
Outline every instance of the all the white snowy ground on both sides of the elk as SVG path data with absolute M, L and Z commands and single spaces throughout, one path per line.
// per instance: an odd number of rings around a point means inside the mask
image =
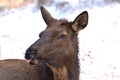
M 89 24 L 79 35 L 81 80 L 120 80 L 120 4 L 84 10 L 89 12 Z M 25 50 L 45 29 L 40 12 L 29 11 L 0 17 L 1 59 L 24 59 Z M 73 20 L 81 11 L 62 16 Z

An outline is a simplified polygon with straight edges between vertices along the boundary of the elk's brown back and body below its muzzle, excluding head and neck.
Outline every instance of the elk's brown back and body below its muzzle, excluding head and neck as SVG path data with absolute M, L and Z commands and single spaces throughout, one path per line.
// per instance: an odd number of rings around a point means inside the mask
M 0 60 L 0 80 L 53 80 L 49 70 L 42 63 L 30 65 L 19 59 Z

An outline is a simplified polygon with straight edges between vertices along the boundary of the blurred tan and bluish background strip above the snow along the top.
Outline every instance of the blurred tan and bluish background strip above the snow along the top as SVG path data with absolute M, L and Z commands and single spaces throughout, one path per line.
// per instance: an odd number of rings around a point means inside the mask
M 13 8 L 17 9 L 31 3 L 35 4 L 37 9 L 42 5 L 46 5 L 54 6 L 57 10 L 66 11 L 69 8 L 93 7 L 94 5 L 104 6 L 114 2 L 120 3 L 120 0 L 0 0 L 0 12 Z

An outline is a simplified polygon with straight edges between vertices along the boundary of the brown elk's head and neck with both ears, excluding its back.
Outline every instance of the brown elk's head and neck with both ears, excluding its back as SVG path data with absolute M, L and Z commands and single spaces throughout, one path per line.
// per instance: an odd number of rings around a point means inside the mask
M 45 64 L 54 80 L 79 80 L 78 32 L 88 24 L 87 11 L 74 21 L 57 20 L 41 7 L 47 28 L 39 34 L 39 39 L 27 50 L 25 58 L 30 64 Z M 50 76 L 46 76 L 50 77 Z

